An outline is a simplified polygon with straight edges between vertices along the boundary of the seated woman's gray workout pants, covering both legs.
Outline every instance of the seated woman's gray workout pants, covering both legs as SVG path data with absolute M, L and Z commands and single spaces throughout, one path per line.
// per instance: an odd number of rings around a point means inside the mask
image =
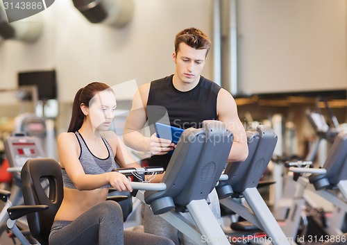
M 124 231 L 123 213 L 115 201 L 104 201 L 74 221 L 55 221 L 49 245 L 174 245 L 165 237 Z

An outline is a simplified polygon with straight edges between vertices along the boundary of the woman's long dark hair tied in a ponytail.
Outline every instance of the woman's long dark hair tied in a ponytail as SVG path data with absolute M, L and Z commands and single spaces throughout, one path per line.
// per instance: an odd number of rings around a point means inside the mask
M 81 104 L 89 106 L 90 100 L 94 97 L 95 94 L 108 89 L 110 89 L 110 86 L 105 83 L 93 82 L 85 87 L 80 88 L 77 91 L 74 99 L 74 104 L 72 105 L 71 121 L 67 132 L 76 132 L 81 128 L 85 117 L 81 110 Z

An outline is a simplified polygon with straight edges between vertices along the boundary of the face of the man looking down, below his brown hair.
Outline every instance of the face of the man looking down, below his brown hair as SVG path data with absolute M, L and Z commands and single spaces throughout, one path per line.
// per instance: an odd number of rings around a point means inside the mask
M 176 63 L 175 75 L 183 83 L 198 83 L 205 65 L 207 49 L 194 49 L 184 42 L 180 43 L 177 54 L 172 57 Z

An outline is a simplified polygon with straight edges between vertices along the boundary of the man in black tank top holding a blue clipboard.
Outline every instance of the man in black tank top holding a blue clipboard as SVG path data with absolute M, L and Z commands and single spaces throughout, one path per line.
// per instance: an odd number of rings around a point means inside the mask
M 165 115 L 171 126 L 179 128 L 200 128 L 203 120 L 223 121 L 234 135 L 234 142 L 228 162 L 243 161 L 248 155 L 246 133 L 237 115 L 237 105 L 232 95 L 216 83 L 201 76 L 211 42 L 205 33 L 196 28 L 186 28 L 176 35 L 175 51 L 172 58 L 176 64 L 174 75 L 146 83 L 139 87 L 134 96 L 133 106 L 124 128 L 124 142 L 137 151 L 150 151 L 151 166 L 167 167 L 174 149 L 171 140 L 156 137 L 153 124 L 163 121 Z M 151 126 L 151 137 L 141 130 L 146 121 Z M 155 178 L 160 182 L 162 176 Z M 211 192 L 210 208 L 220 219 L 217 193 Z M 173 227 L 165 224 L 161 217 L 151 217 L 151 210 L 144 210 L 145 232 L 164 235 L 175 244 L 190 243 L 189 239 L 175 235 Z M 169 234 L 169 230 L 171 233 Z

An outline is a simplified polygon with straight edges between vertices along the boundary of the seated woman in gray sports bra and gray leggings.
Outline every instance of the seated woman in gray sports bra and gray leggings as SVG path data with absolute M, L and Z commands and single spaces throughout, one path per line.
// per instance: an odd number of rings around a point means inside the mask
M 64 199 L 51 228 L 50 245 L 173 244 L 164 237 L 124 231 L 120 205 L 105 201 L 108 187 L 133 190 L 126 176 L 111 170 L 139 167 L 109 130 L 116 105 L 115 94 L 105 83 L 90 83 L 76 93 L 68 132 L 58 136 Z

